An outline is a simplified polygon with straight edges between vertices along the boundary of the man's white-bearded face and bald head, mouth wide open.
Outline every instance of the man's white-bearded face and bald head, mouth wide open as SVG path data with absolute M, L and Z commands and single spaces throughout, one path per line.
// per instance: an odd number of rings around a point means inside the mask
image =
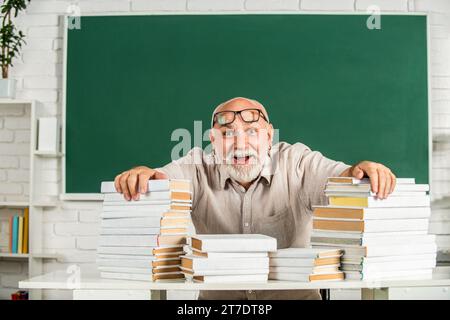
M 241 98 L 223 105 L 216 113 L 249 109 L 261 110 L 266 115 L 260 105 Z M 211 130 L 217 160 L 227 166 L 230 176 L 238 182 L 253 181 L 261 172 L 269 151 L 273 128 L 262 115 L 258 116 L 258 121 L 245 122 L 236 114 L 232 123 L 221 125 L 215 121 Z

